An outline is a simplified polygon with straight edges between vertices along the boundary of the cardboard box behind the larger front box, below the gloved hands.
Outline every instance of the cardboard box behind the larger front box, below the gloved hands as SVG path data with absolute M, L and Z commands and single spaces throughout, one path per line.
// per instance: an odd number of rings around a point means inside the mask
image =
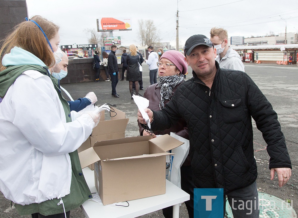
M 128 123 L 128 118 L 125 118 L 125 113 L 113 108 L 115 112 L 111 112 L 111 119 L 105 120 L 105 116 L 100 117 L 98 125 L 92 130 L 89 138 L 77 149 L 80 153 L 83 150 L 93 147 L 95 142 L 105 141 L 110 139 L 120 139 L 125 137 L 125 129 Z M 102 112 L 103 113 L 103 112 Z M 108 111 L 105 110 L 105 113 Z M 94 170 L 94 164 L 89 166 Z

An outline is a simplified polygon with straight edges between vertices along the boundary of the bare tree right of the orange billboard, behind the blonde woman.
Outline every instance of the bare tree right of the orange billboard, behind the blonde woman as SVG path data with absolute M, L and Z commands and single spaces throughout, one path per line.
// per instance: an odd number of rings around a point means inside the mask
M 154 45 L 157 43 L 158 32 L 153 20 L 139 20 L 139 40 L 142 46 Z

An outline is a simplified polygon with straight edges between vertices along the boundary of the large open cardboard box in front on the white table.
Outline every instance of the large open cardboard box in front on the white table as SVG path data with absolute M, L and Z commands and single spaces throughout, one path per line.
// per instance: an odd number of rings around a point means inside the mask
M 96 142 L 79 153 L 82 168 L 95 163 L 95 186 L 104 205 L 165 193 L 166 151 L 183 142 L 169 136 Z

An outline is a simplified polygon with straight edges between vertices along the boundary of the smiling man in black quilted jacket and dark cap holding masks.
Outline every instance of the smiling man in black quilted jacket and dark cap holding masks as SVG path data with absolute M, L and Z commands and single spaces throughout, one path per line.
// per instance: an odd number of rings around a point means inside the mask
M 216 49 L 206 36 L 190 37 L 184 54 L 193 78 L 180 85 L 161 111 L 145 109 L 151 129 L 170 128 L 182 117 L 189 131 L 195 186 L 224 188 L 235 218 L 259 217 L 252 118 L 268 145 L 271 180 L 277 172 L 281 187 L 291 177 L 277 114 L 246 73 L 219 68 Z M 144 123 L 140 112 L 138 120 Z M 243 202 L 245 208 L 239 209 Z

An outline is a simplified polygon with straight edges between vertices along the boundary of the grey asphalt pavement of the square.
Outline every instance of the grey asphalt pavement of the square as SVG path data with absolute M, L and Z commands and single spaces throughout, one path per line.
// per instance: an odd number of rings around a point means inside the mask
M 298 67 L 296 65 L 277 65 L 277 64 L 245 64 L 246 73 L 252 77 L 260 90 L 265 94 L 267 99 L 278 114 L 279 122 L 288 146 L 293 165 L 292 177 L 288 184 L 282 188 L 278 187 L 278 181 L 275 176 L 270 180 L 270 171 L 268 169 L 269 156 L 266 152 L 266 142 L 262 134 L 254 126 L 254 150 L 258 164 L 257 186 L 260 192 L 274 195 L 282 200 L 290 200 L 296 213 L 298 212 Z M 187 79 L 192 77 L 192 70 L 189 67 Z M 148 65 L 143 64 L 143 87 L 146 89 L 150 85 Z M 93 91 L 97 95 L 97 105 L 104 103 L 116 104 L 117 109 L 126 113 L 129 118 L 128 126 L 125 132 L 126 137 L 138 136 L 139 128 L 137 126 L 137 106 L 129 92 L 128 81 L 119 81 L 117 84 L 117 93 L 119 98 L 111 96 L 111 81 L 82 82 L 63 84 L 72 98 L 77 99 L 84 97 L 88 92 Z M 140 90 L 143 95 L 145 90 Z M 65 95 L 66 96 L 66 95 Z M 67 97 L 66 97 L 67 98 Z M 10 201 L 6 200 L 2 193 L 0 194 L 0 218 L 2 217 L 31 217 L 19 216 L 14 207 L 10 208 Z M 276 210 L 278 213 L 278 210 Z M 77 208 L 71 211 L 71 217 L 85 217 Z M 162 211 L 143 215 L 142 218 L 163 217 Z M 184 204 L 180 208 L 180 217 L 188 217 Z M 268 216 L 271 217 L 271 216 Z M 272 215 L 273 217 L 273 215 Z M 283 217 L 280 215 L 280 217 Z M 293 216 L 294 217 L 294 216 Z

